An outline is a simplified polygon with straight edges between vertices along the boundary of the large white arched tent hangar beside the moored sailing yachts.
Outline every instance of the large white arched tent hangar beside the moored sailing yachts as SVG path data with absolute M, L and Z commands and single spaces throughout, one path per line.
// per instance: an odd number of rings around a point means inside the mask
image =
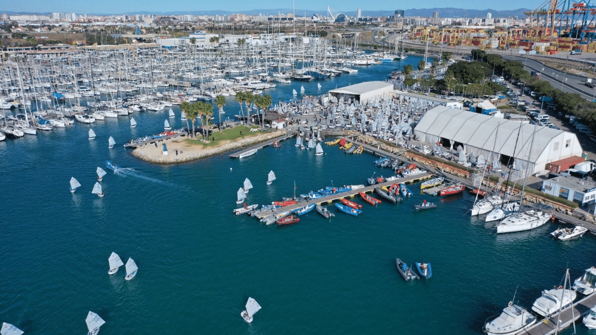
M 496 154 L 502 164 L 513 163 L 527 173 L 544 170 L 555 160 L 582 155 L 578 138 L 570 132 L 445 106 L 427 111 L 414 128 L 414 136 L 454 150 L 461 145 L 468 154 L 478 157 L 482 153 L 486 162 L 492 162 Z

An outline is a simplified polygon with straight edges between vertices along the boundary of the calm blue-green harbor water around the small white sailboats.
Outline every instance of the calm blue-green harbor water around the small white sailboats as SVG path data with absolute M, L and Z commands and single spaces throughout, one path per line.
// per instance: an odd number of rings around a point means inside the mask
M 397 67 L 360 68 L 321 82 L 322 91 L 383 80 Z M 286 100 L 300 85 L 318 91 L 309 82 L 265 94 Z M 236 114 L 237 105 L 230 100 L 225 110 Z M 176 115 L 170 123 L 182 126 Z M 551 240 L 552 224 L 496 235 L 494 225 L 470 219 L 469 194 L 425 197 L 419 185 L 402 204 L 356 199 L 364 206 L 357 218 L 330 206 L 331 220 L 311 212 L 290 227 L 264 226 L 231 214 L 244 178 L 254 185 L 247 202 L 269 203 L 294 190 L 364 184 L 389 170 L 370 154 L 324 146 L 315 156 L 291 140 L 243 160 L 222 154 L 151 165 L 122 144 L 161 131 L 167 111 L 132 116 L 132 129 L 122 116 L 91 125 L 92 141 L 89 125 L 76 123 L 0 142 L 0 321 L 27 334 L 82 334 L 91 310 L 106 321 L 101 334 L 479 334 L 514 294 L 529 309 L 541 290 L 561 284 L 567 267 L 576 278 L 595 263 L 590 235 Z M 98 198 L 91 189 L 105 160 L 126 169 L 108 172 Z M 278 178 L 272 185 L 269 170 Z M 71 176 L 82 184 L 75 194 Z M 415 212 L 423 198 L 438 208 Z M 134 280 L 124 280 L 123 267 L 107 274 L 111 252 L 135 259 Z M 431 262 L 433 278 L 405 283 L 396 257 Z M 252 324 L 240 317 L 249 296 L 262 306 Z M 588 331 L 579 324 L 578 333 Z

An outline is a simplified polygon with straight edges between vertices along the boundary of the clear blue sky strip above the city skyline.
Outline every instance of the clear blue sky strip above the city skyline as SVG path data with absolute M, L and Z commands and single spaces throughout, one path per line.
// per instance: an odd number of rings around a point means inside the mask
M 420 2 L 401 2 L 391 4 L 387 1 L 328 1 L 321 2 L 315 0 L 295 1 L 296 9 L 326 11 L 327 5 L 331 7 L 334 13 L 342 11 L 355 11 L 360 8 L 362 11 L 368 10 L 409 10 L 412 8 L 463 8 L 470 10 L 517 10 L 519 8 L 535 9 L 542 5 L 544 0 L 530 1 L 478 1 L 478 0 L 424 0 Z M 290 0 L 260 0 L 260 1 L 189 1 L 189 0 L 141 0 L 141 1 L 122 1 L 122 0 L 103 0 L 103 1 L 80 1 L 80 0 L 5 0 L 0 6 L 2 11 L 26 12 L 26 13 L 46 13 L 46 12 L 68 12 L 68 13 L 130 13 L 138 11 L 169 12 L 169 11 L 246 11 L 246 10 L 267 10 L 275 8 L 292 8 L 293 2 Z M 268 13 L 272 14 L 272 13 Z

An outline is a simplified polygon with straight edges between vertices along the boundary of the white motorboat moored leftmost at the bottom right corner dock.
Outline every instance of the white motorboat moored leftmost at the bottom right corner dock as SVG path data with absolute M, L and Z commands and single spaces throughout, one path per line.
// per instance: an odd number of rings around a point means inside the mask
M 509 302 L 503 312 L 492 321 L 486 322 L 483 331 L 487 335 L 514 335 L 536 323 L 536 316 L 525 308 Z

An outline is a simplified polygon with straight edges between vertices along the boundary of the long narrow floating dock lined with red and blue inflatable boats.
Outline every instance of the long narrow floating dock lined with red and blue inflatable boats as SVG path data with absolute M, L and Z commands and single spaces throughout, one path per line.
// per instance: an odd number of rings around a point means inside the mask
M 315 204 L 322 204 L 322 203 L 331 204 L 331 203 L 333 203 L 333 201 L 336 201 L 336 200 L 340 200 L 340 199 L 343 199 L 343 198 L 352 198 L 352 197 L 358 196 L 358 193 L 360 193 L 360 192 L 371 193 L 371 192 L 374 191 L 374 188 L 375 187 L 383 187 L 383 186 L 389 187 L 390 185 L 392 185 L 394 183 L 401 184 L 402 182 L 405 183 L 405 184 L 411 184 L 413 182 L 418 182 L 418 181 L 422 181 L 424 179 L 428 179 L 431 176 L 432 175 L 430 173 L 425 172 L 425 173 L 421 173 L 420 175 L 407 176 L 405 178 L 397 178 L 397 179 L 394 179 L 392 181 L 386 181 L 386 182 L 382 182 L 382 183 L 379 183 L 379 184 L 370 185 L 370 186 L 366 186 L 366 187 L 363 187 L 363 188 L 358 188 L 356 190 L 351 190 L 351 191 L 347 191 L 347 192 L 331 194 L 330 196 L 316 198 L 316 199 L 311 199 L 311 200 L 306 200 L 306 201 L 299 201 L 299 203 L 297 203 L 297 204 L 292 204 L 290 206 L 280 207 L 280 208 L 277 208 L 277 209 L 273 210 L 272 212 L 257 213 L 256 217 L 259 218 L 259 219 L 262 219 L 265 216 L 269 216 L 269 215 L 274 214 L 274 213 L 285 212 L 286 210 L 290 210 L 290 212 L 291 212 L 294 209 L 298 209 L 300 207 L 304 207 L 304 206 L 306 206 L 308 204 L 313 204 L 313 203 L 315 203 Z M 385 198 L 380 198 L 380 200 L 383 201 L 383 202 L 389 202 L 389 200 L 386 200 Z

